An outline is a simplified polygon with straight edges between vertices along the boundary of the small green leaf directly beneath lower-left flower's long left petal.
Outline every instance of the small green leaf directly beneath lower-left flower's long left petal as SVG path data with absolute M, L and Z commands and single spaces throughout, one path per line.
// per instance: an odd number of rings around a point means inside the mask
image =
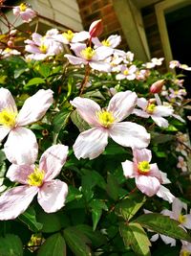
M 31 229 L 33 232 L 41 230 L 43 226 L 42 223 L 36 221 L 35 211 L 32 207 L 20 215 L 19 220 L 27 224 L 29 229 Z

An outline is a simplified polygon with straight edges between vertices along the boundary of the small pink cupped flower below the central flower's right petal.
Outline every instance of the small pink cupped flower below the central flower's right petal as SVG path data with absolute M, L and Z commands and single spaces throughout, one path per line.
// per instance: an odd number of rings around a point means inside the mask
M 162 177 L 157 164 L 149 164 L 152 158 L 151 151 L 147 149 L 134 149 L 133 162 L 126 160 L 122 163 L 123 174 L 127 178 L 135 177 L 138 189 L 152 197 L 159 192 Z

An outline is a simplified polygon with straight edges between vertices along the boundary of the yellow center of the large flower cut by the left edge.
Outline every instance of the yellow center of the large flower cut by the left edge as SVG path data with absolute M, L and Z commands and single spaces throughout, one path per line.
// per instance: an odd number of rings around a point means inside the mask
M 16 123 L 17 112 L 14 112 L 8 108 L 3 109 L 0 112 L 0 125 L 8 128 L 13 128 Z

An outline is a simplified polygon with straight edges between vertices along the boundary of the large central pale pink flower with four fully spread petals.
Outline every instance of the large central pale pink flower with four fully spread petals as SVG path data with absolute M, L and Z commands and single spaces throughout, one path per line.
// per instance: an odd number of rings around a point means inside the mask
M 129 116 L 137 102 L 131 91 L 117 92 L 106 108 L 96 102 L 76 97 L 71 102 L 80 116 L 92 127 L 79 134 L 74 143 L 74 154 L 79 159 L 96 158 L 102 153 L 111 137 L 123 147 L 145 148 L 150 142 L 146 129 L 132 122 L 121 122 Z

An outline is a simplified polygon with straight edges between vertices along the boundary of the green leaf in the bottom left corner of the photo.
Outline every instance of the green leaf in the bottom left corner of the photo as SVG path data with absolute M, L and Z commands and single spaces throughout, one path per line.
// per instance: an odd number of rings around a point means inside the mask
M 0 237 L 1 256 L 22 256 L 23 244 L 18 236 L 7 234 L 4 238 Z

